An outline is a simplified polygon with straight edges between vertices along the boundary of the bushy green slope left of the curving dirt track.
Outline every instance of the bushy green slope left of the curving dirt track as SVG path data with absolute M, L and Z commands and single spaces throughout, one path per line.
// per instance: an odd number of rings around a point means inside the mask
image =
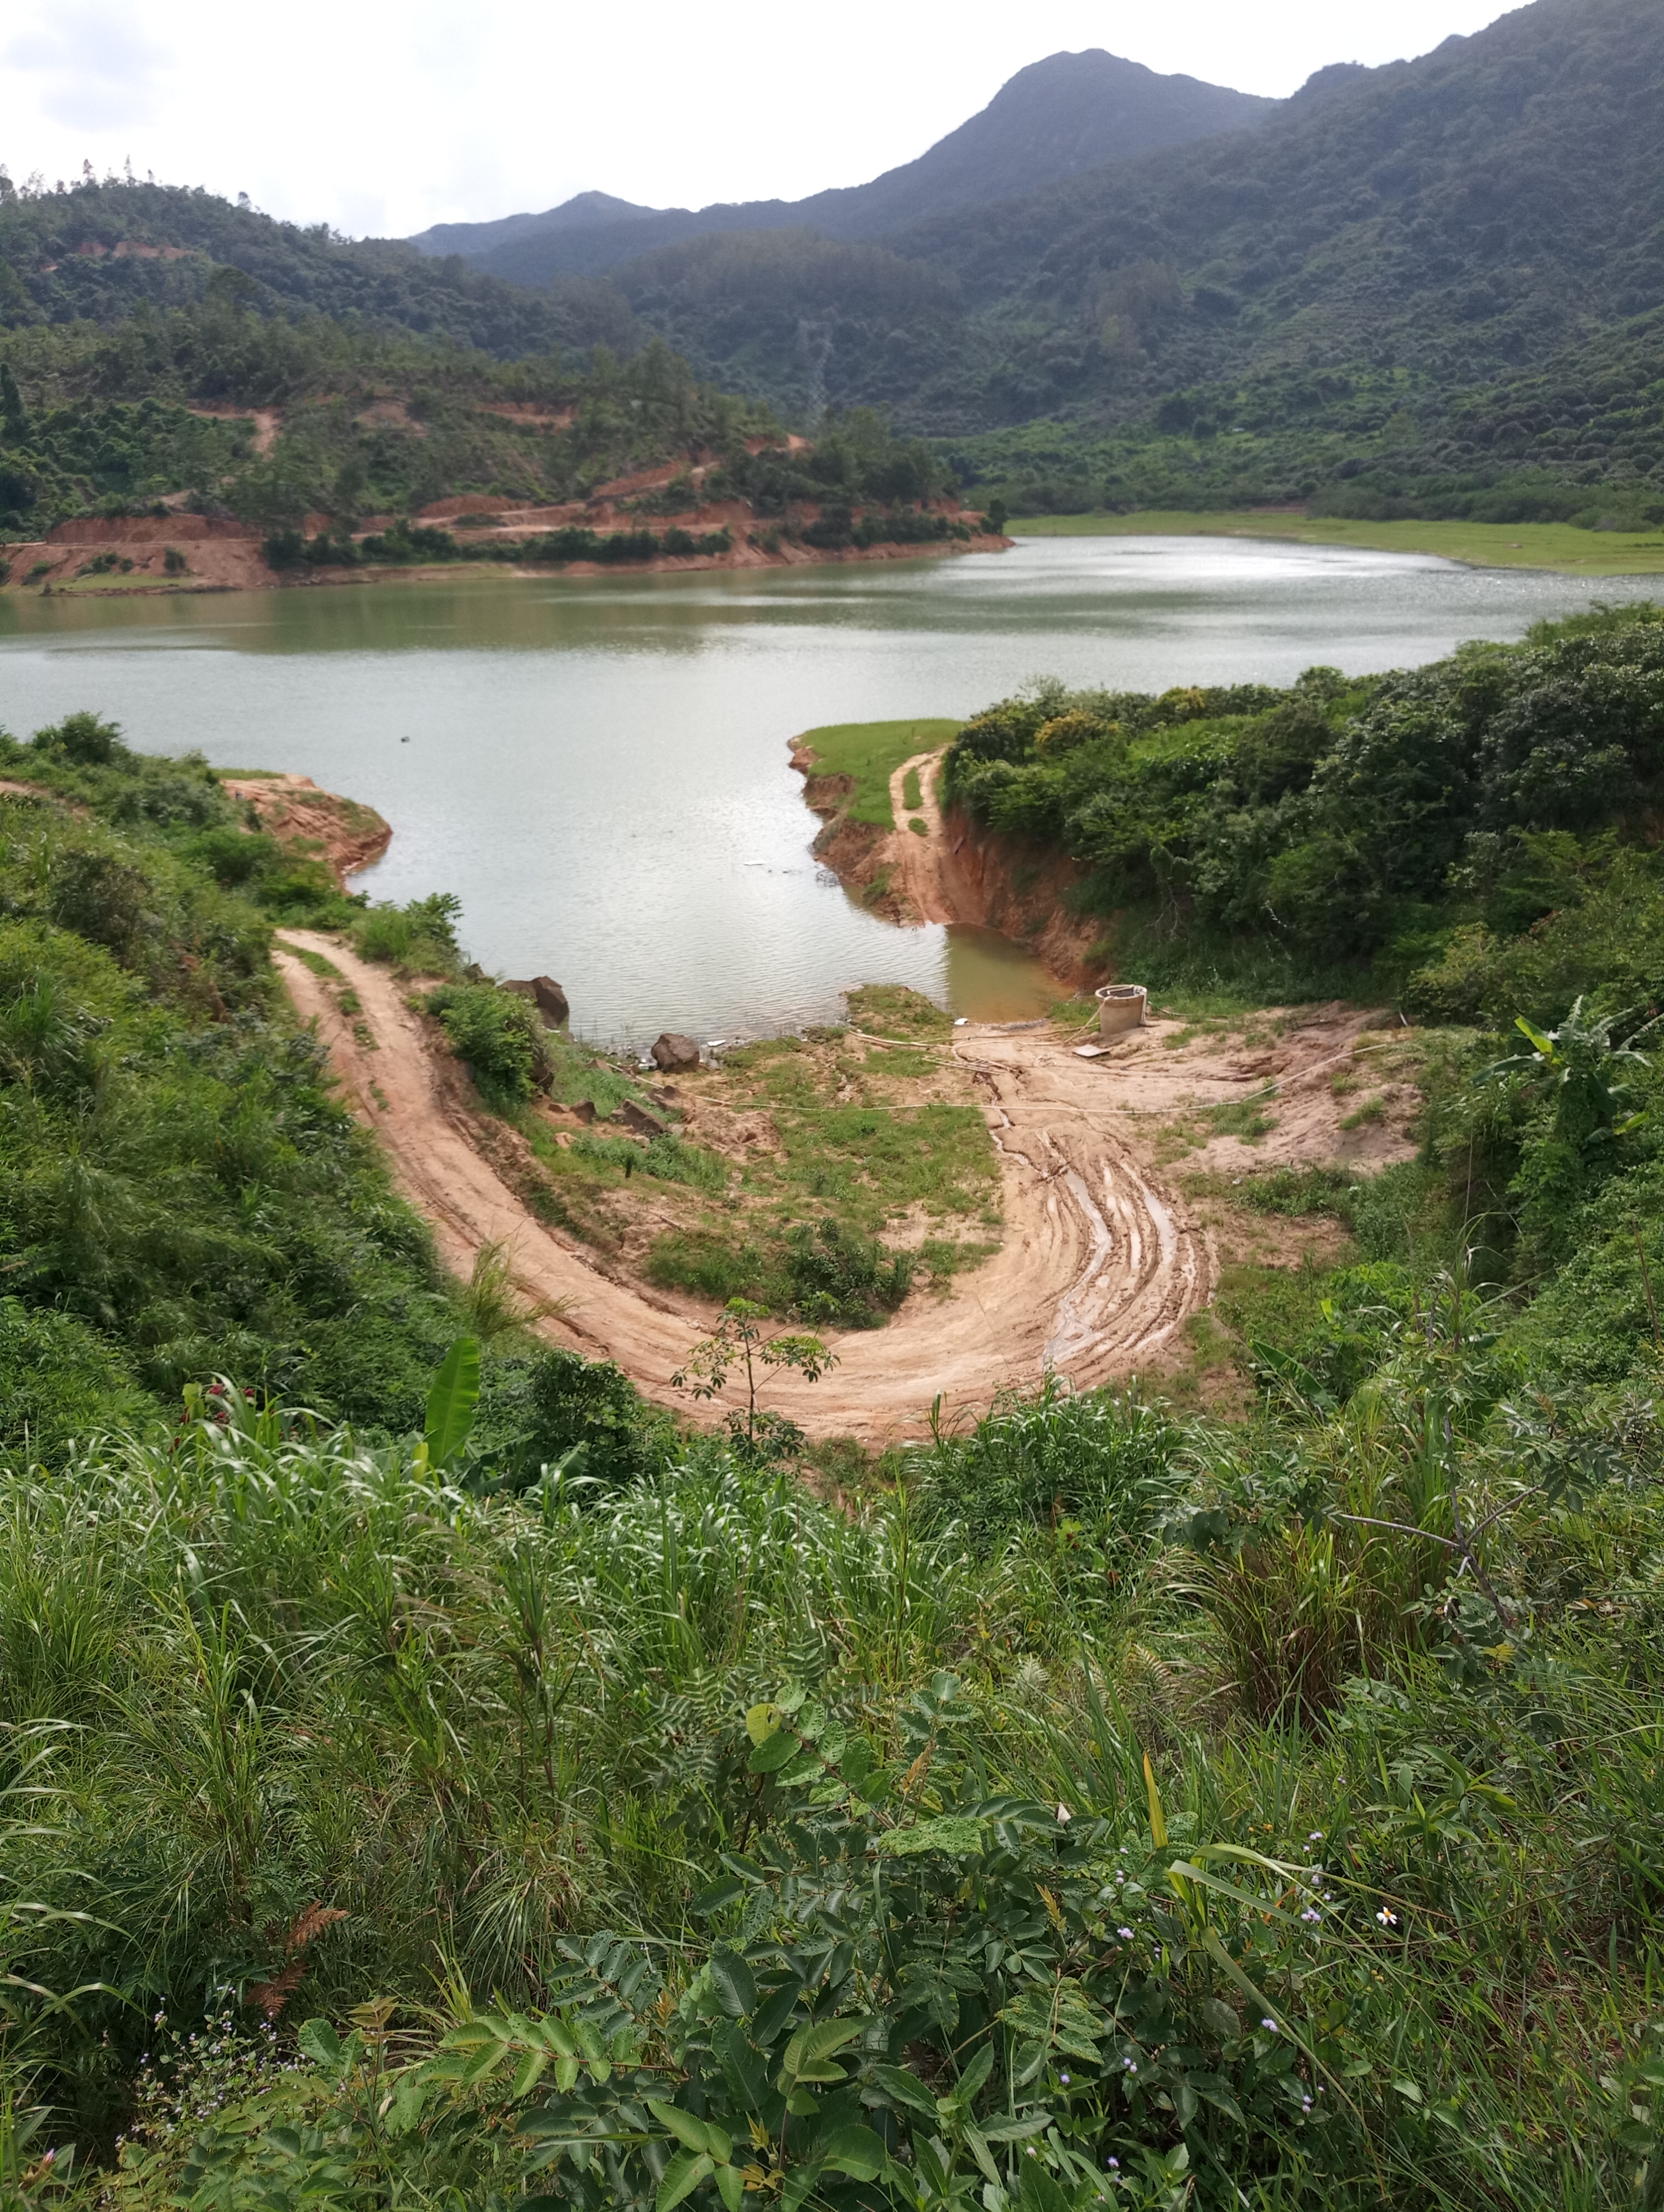
M 215 1374 L 407 1429 L 474 1307 L 268 958 L 274 925 L 376 918 L 95 714 L 0 737 L 0 1438 L 60 1464 Z M 505 1407 L 527 1387 L 509 1363 Z

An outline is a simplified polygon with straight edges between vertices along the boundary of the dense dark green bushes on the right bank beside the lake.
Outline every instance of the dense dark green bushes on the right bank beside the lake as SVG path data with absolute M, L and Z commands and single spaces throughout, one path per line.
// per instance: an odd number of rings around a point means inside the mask
M 1496 998 L 1494 933 L 1556 914 L 1573 876 L 1640 940 L 1651 863 L 1578 841 L 1637 830 L 1662 776 L 1664 622 L 1633 608 L 1354 686 L 1321 668 L 1283 695 L 1038 686 L 960 732 L 945 790 L 1060 843 L 1095 872 L 1093 905 L 1193 951 L 1272 949 L 1312 973 L 1385 956 L 1405 973 L 1449 947 L 1412 989 L 1454 1013 Z M 1569 973 L 1575 927 L 1549 933 Z M 1553 953 L 1514 964 L 1531 958 Z

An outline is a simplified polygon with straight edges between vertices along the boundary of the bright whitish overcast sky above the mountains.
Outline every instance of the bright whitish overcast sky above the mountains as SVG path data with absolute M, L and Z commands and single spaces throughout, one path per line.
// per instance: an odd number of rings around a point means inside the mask
M 1496 0 L 7 0 L 0 159 L 405 234 L 604 190 L 799 199 L 912 161 L 1025 62 L 1106 46 L 1246 93 L 1478 31 Z

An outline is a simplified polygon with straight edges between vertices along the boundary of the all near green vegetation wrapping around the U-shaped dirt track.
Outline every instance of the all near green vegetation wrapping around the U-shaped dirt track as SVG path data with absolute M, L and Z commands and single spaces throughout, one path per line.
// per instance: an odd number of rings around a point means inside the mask
M 1047 1387 L 812 1471 L 431 1272 L 263 945 L 445 971 L 449 900 L 9 743 L 15 2201 L 1649 2203 L 1662 635 L 978 717 L 960 803 L 1120 823 L 1175 973 L 1188 902 L 1319 987 L 1328 838 L 1423 1150 L 1235 1186 L 1330 1223 L 1244 1420 Z

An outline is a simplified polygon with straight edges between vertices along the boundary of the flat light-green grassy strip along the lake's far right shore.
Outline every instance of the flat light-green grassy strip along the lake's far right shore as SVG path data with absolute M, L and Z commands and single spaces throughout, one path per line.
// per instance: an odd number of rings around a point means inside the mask
M 1660 531 L 1580 531 L 1569 522 L 1337 522 L 1328 518 L 1182 511 L 1137 515 L 1016 515 L 1011 538 L 1288 538 L 1312 546 L 1438 553 L 1471 568 L 1556 568 L 1564 575 L 1660 575 Z

